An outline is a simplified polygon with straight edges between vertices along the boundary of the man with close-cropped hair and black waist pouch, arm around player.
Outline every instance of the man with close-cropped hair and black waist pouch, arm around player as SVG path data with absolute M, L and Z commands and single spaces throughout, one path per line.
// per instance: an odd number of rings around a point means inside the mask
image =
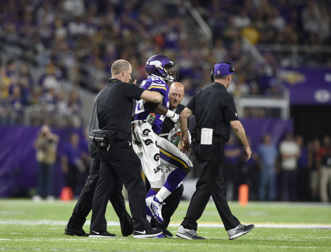
M 98 94 L 93 115 L 99 130 L 91 137 L 97 145 L 100 159 L 100 178 L 92 201 L 92 217 L 89 237 L 115 237 L 107 232 L 105 213 L 109 192 L 120 180 L 128 190 L 129 206 L 133 219 L 133 238 L 148 238 L 160 235 L 162 230 L 152 229 L 146 219 L 146 203 L 140 161 L 132 149 L 131 113 L 133 99 L 159 103 L 162 96 L 143 90 L 132 83 L 132 67 L 125 60 L 112 65 L 112 78 Z

